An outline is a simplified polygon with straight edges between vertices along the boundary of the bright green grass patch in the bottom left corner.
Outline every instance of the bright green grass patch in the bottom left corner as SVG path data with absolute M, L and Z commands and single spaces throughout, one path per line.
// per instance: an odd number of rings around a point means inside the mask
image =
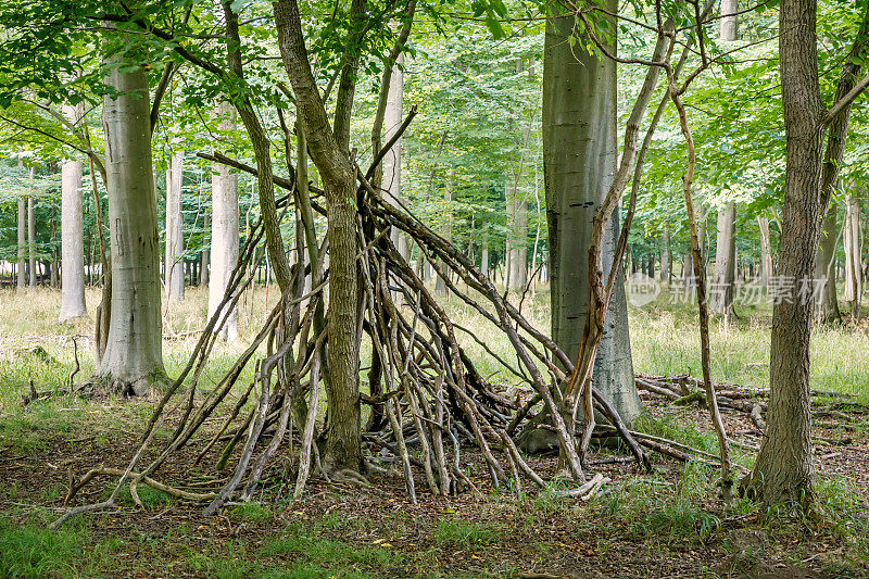
M 85 545 L 84 531 L 16 527 L 0 519 L 3 577 L 97 577 L 106 568 L 106 544 Z

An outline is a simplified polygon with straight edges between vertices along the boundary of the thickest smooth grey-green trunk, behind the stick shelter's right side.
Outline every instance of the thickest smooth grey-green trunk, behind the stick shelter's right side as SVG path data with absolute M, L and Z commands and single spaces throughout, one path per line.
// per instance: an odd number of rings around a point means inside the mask
M 604 8 L 613 13 L 617 2 Z M 552 335 L 576 358 L 589 303 L 588 250 L 592 219 L 616 165 L 616 64 L 574 50 L 574 16 L 546 23 L 543 60 L 543 168 L 550 232 Z M 615 29 L 610 22 L 610 29 Z M 577 46 L 584 46 L 580 39 Z M 615 47 L 612 47 L 615 50 Z M 619 231 L 610 219 L 603 246 L 604 276 Z M 619 274 L 594 365 L 595 388 L 625 420 L 641 412 L 633 381 L 624 277 Z

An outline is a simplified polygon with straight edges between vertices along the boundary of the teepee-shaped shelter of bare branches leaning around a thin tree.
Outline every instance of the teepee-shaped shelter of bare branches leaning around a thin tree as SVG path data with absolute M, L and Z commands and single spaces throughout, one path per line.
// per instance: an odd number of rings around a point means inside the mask
M 242 163 L 213 159 L 256 174 L 254 167 Z M 577 483 L 584 483 L 583 464 L 576 445 L 576 425 L 564 419 L 565 415 L 569 419 L 569 413 L 565 413 L 561 399 L 561 388 L 574 368 L 571 361 L 544 332 L 534 328 L 506 295 L 499 293 L 463 252 L 406 209 L 385 201 L 362 172 L 358 179 L 358 327 L 368 336 L 373 350 L 368 375 L 370 394 L 363 394 L 361 400 L 371 411 L 363 437 L 369 451 L 367 455 L 373 456 L 377 449 L 395 455 L 402 464 L 413 502 L 417 500 L 415 471 L 421 471 L 433 494 L 476 490 L 459 461 L 461 453 L 468 448 L 479 451 L 484 458 L 493 486 L 512 479 L 515 488 L 520 488 L 522 480 L 544 487 L 544 478 L 522 458 L 513 441 L 514 433 L 531 416 L 532 407 L 541 405 L 540 412 L 551 416 L 551 428 L 557 433 L 566 470 Z M 325 210 L 315 200 L 299 199 L 300 192 L 292 179 L 276 178 L 275 182 L 289 190 L 278 202 L 285 216 L 291 206 L 297 212 L 292 282 L 285 288 L 262 329 L 216 388 L 198 401 L 197 383 L 227 312 L 237 307 L 242 293 L 254 282 L 252 272 L 255 268 L 250 265 L 262 254 L 255 250 L 265 230 L 262 222 L 256 223 L 240 252 L 223 303 L 209 320 L 186 368 L 158 404 L 127 468 L 89 474 L 88 480 L 97 475 L 119 473 L 115 491 L 103 503 L 67 512 L 56 524 L 76 513 L 112 506 L 124 484 L 134 489 L 138 483 L 156 483 L 163 490 L 171 489 L 175 496 L 207 501 L 205 512 L 213 514 L 228 501 L 248 500 L 279 451 L 288 455 L 294 466 L 294 498 L 302 495 L 312 465 L 327 480 L 349 477 L 360 483 L 366 482 L 364 477 L 352 473 L 327 473 L 320 465 L 315 442 L 317 432 L 327 428 L 325 424 L 318 425 L 317 411 L 320 383 L 329 379 L 325 355 L 328 325 L 324 318 L 324 289 L 329 279 L 325 269 L 328 248 L 324 240 L 316 251 L 310 251 L 310 241 L 317 237 L 306 235 L 312 232 L 313 219 L 305 216 L 303 210 L 313 207 L 324 214 Z M 313 186 L 310 189 L 317 193 Z M 291 199 L 295 203 L 291 204 Z M 396 234 L 412 240 L 416 265 L 423 260 L 430 263 L 455 297 L 504 332 L 515 351 L 516 363 L 499 356 L 479 340 L 477 343 L 504 370 L 532 387 L 534 395 L 530 401 L 509 400 L 499 385 L 478 370 L 458 339 L 459 332 L 467 330 L 451 320 L 417 274 L 419 267 L 414 267 L 399 252 L 393 243 Z M 243 369 L 250 364 L 255 367 L 254 378 L 239 385 Z M 182 389 L 186 389 L 185 395 L 177 395 Z M 240 397 L 232 402 L 230 392 L 240 393 Z M 610 429 L 621 438 L 633 458 L 647 469 L 646 455 L 612 403 L 597 391 L 593 395 L 595 410 L 609 421 Z M 169 412 L 171 404 L 175 412 Z M 177 419 L 172 436 L 163 442 L 156 457 L 140 468 L 146 449 L 153 443 L 154 432 L 171 416 L 172 420 Z M 202 426 L 214 417 L 221 418 L 219 428 L 204 432 Z M 417 444 L 421 451 L 418 458 L 408 452 L 412 444 Z M 197 463 L 216 452 L 218 470 L 230 463 L 235 465 L 232 474 L 219 488 L 185 493 L 156 479 L 156 471 L 166 460 L 190 445 L 199 449 Z M 374 461 L 369 466 L 377 468 Z M 81 487 L 80 481 L 74 484 L 75 490 Z M 67 501 L 74 494 L 71 492 Z

